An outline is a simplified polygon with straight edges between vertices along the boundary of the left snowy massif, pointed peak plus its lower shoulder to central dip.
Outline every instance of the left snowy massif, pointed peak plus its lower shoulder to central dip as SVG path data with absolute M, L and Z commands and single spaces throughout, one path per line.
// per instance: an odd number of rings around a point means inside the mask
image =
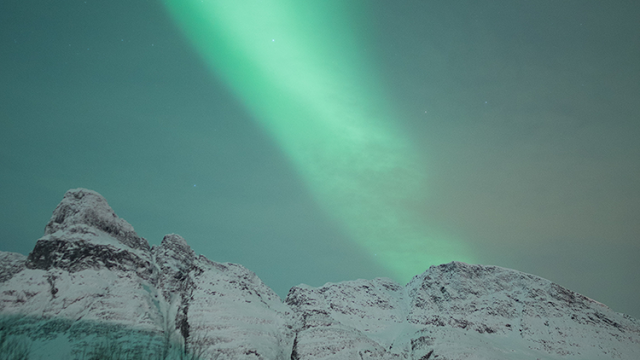
M 34 358 L 104 338 L 157 358 L 185 345 L 220 360 L 290 354 L 289 310 L 255 274 L 196 257 L 178 235 L 150 248 L 94 191 L 68 191 L 29 256 L 0 259 L 0 330 L 28 334 Z

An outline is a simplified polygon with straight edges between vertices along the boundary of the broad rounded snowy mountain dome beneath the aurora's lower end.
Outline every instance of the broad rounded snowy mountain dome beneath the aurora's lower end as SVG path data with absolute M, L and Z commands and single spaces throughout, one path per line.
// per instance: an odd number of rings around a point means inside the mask
M 406 287 L 407 321 L 452 358 L 640 359 L 637 322 L 540 277 L 497 266 L 431 267 Z

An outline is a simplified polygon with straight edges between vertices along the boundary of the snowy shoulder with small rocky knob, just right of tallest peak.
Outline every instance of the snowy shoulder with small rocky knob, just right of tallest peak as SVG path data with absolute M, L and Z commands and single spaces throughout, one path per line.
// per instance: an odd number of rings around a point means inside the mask
M 215 359 L 289 359 L 290 310 L 251 271 L 196 257 L 178 235 L 154 248 L 172 339 Z

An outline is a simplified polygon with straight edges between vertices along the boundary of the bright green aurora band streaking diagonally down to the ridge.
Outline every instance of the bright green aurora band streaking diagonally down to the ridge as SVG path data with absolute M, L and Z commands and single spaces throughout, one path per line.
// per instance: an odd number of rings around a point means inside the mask
M 312 196 L 398 281 L 470 261 L 420 218 L 424 160 L 350 26 L 355 1 L 165 0 L 213 72 L 294 164 Z M 370 58 L 370 57 L 369 57 Z

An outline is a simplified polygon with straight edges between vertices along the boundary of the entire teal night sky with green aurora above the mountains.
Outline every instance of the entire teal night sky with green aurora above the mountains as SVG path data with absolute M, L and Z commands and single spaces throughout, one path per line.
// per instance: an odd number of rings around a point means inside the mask
M 638 18 L 637 1 L 2 1 L 0 250 L 28 254 L 84 187 L 150 244 L 180 234 L 281 297 L 459 260 L 640 318 Z

